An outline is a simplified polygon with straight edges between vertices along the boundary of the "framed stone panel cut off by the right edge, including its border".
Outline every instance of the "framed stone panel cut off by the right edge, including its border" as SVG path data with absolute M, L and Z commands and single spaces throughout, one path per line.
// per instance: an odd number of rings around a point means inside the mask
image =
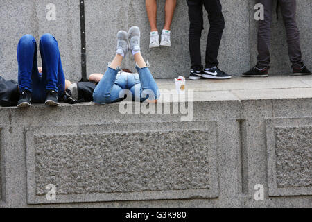
M 312 119 L 266 123 L 269 195 L 312 195 Z

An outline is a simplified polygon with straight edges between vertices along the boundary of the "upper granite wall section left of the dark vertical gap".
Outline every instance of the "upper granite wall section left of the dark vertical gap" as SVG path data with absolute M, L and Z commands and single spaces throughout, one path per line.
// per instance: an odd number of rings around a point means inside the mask
M 46 6 L 55 5 L 56 19 L 48 21 Z M 0 76 L 17 79 L 17 44 L 26 34 L 37 40 L 38 65 L 40 37 L 51 33 L 58 40 L 64 74 L 72 80 L 81 78 L 80 12 L 76 0 L 3 0 L 0 7 Z

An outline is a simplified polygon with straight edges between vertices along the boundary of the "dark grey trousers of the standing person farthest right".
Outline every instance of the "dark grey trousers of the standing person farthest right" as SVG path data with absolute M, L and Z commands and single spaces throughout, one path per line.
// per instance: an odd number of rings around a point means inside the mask
M 272 0 L 257 0 L 264 6 L 264 20 L 259 21 L 258 28 L 258 57 L 257 67 L 270 67 L 270 39 L 272 24 Z M 293 68 L 304 66 L 300 49 L 299 30 L 296 24 L 296 0 L 279 0 L 279 6 L 283 15 L 287 34 L 288 55 L 293 64 Z

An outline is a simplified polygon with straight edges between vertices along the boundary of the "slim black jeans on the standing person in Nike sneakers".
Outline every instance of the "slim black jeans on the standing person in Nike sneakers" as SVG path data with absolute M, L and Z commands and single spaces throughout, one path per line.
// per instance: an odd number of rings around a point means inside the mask
M 218 66 L 218 51 L 225 27 L 220 0 L 187 0 L 189 6 L 189 51 L 191 69 L 202 70 L 200 38 L 204 29 L 202 6 L 208 12 L 210 29 L 206 48 L 206 68 Z

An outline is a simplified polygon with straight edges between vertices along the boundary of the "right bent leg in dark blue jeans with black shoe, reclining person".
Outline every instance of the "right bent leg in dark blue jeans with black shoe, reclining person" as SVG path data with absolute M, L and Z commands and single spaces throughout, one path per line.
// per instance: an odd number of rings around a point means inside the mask
M 46 93 L 46 105 L 59 105 L 58 99 L 65 91 L 65 76 L 62 69 L 58 41 L 51 34 L 42 35 L 40 39 L 42 56 L 42 82 Z

